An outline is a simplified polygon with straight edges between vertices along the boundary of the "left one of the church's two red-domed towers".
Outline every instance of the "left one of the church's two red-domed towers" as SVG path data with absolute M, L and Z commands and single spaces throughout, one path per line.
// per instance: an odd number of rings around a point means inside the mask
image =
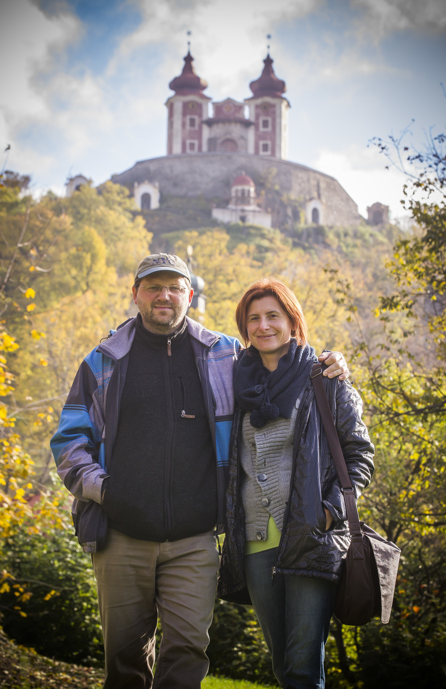
M 184 58 L 180 76 L 169 83 L 175 91 L 167 102 L 167 155 L 178 153 L 202 153 L 202 121 L 207 119 L 208 101 L 203 91 L 207 82 L 195 74 L 190 51 Z

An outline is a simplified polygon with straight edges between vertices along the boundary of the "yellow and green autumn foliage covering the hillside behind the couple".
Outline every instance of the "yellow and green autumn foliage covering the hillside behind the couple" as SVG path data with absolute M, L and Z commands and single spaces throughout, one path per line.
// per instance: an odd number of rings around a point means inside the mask
M 191 244 L 206 327 L 237 335 L 244 289 L 278 276 L 301 301 L 310 344 L 348 353 L 365 403 L 376 473 L 361 516 L 403 556 L 388 626 L 332 621 L 327 686 L 445 686 L 446 212 L 444 175 L 431 167 L 429 178 L 424 164 L 426 176 L 405 189 L 414 219 L 405 234 L 392 225 L 304 227 L 298 214 L 284 232 L 215 227 L 205 203 L 191 202 L 187 216 L 188 202 L 174 198 L 142 217 L 112 183 L 34 200 L 28 178 L 3 177 L 0 610 L 9 635 L 56 659 L 103 661 L 92 568 L 72 536 L 48 440 L 85 353 L 134 315 L 132 271 L 150 243 L 182 258 Z M 178 229 L 176 212 L 193 229 Z M 252 609 L 217 601 L 210 635 L 211 672 L 275 683 Z

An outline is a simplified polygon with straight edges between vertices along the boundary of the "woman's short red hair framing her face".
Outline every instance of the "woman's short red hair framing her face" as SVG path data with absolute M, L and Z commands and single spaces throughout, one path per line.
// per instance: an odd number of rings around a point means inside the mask
M 246 347 L 248 347 L 248 309 L 251 302 L 255 299 L 262 299 L 263 297 L 274 297 L 286 312 L 291 321 L 291 337 L 297 338 L 299 345 L 305 345 L 308 338 L 308 327 L 306 324 L 304 311 L 297 301 L 296 295 L 289 287 L 286 287 L 282 280 L 276 278 L 263 278 L 257 280 L 251 287 L 248 287 L 235 310 L 235 320 L 240 335 L 244 340 Z

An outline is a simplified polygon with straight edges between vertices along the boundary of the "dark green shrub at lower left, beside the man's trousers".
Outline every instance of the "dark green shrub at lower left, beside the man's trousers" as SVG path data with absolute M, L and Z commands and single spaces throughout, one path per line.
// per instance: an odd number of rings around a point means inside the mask
M 48 535 L 20 533 L 6 544 L 0 610 L 8 636 L 50 658 L 102 663 L 91 559 L 74 536 L 60 530 Z

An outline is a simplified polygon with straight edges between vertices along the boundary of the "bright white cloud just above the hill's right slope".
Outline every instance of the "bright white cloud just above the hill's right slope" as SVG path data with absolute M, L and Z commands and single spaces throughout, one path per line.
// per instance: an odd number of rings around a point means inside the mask
M 400 203 L 405 176 L 392 167 L 385 170 L 385 165 L 387 160 L 373 147 L 354 146 L 346 152 L 323 148 L 313 163 L 339 181 L 365 218 L 367 207 L 376 201 L 390 207 L 392 218 L 399 218 L 405 215 Z

